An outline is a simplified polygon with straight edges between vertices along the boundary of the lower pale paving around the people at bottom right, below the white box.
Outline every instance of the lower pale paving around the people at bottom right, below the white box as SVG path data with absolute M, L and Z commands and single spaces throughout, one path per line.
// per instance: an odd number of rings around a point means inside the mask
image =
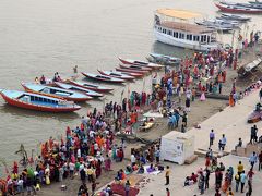
M 236 156 L 226 156 L 218 161 L 223 161 L 226 168 L 229 166 L 234 167 L 234 172 L 237 171 L 238 161 L 241 160 L 245 170 L 250 168 L 247 158 L 240 158 Z M 139 196 L 150 196 L 153 194 L 154 196 L 166 196 L 166 187 L 170 189 L 171 196 L 193 196 L 200 195 L 200 191 L 198 189 L 198 185 L 191 185 L 183 187 L 183 181 L 187 175 L 190 175 L 192 172 L 196 172 L 201 167 L 204 166 L 204 159 L 200 158 L 192 164 L 178 166 L 174 163 L 167 163 L 170 166 L 171 175 L 170 175 L 170 185 L 165 186 L 165 172 L 162 172 L 158 175 L 147 175 L 151 179 L 150 183 L 143 187 L 139 194 Z M 261 184 L 262 184 L 262 171 L 258 171 L 258 164 L 254 166 L 254 176 L 253 176 L 253 194 L 252 196 L 261 196 Z M 235 192 L 235 181 L 233 181 L 233 191 L 235 196 L 245 196 L 245 194 L 240 194 L 239 192 Z M 247 192 L 247 187 L 245 187 L 245 192 Z M 215 195 L 215 174 L 212 173 L 210 176 L 210 188 L 204 193 L 206 196 Z M 222 194 L 223 196 L 226 194 Z

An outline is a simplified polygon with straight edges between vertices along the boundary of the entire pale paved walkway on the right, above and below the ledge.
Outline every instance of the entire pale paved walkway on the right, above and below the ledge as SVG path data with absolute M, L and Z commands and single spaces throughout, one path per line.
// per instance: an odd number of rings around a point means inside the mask
M 239 101 L 235 107 L 227 107 L 224 111 L 218 112 L 207 120 L 201 123 L 201 128 L 191 128 L 188 131 L 189 135 L 195 137 L 194 148 L 198 149 L 207 149 L 209 148 L 209 133 L 213 128 L 216 135 L 216 139 L 213 145 L 213 150 L 218 151 L 218 140 L 222 137 L 222 134 L 226 135 L 227 146 L 225 151 L 230 152 L 235 148 L 235 145 L 238 142 L 238 138 L 241 137 L 243 144 L 247 144 L 250 139 L 250 127 L 253 124 L 247 123 L 248 115 L 254 109 L 254 105 L 259 101 L 259 89 L 253 90 L 249 96 L 245 97 Z M 259 135 L 262 134 L 262 122 L 258 122 L 257 126 L 259 128 Z M 218 159 L 218 162 L 224 162 L 226 168 L 229 166 L 234 167 L 236 172 L 238 161 L 241 160 L 245 166 L 245 170 L 248 171 L 250 164 L 247 158 L 236 157 L 233 155 L 223 157 Z M 165 172 L 158 175 L 147 175 L 151 179 L 151 182 L 145 185 L 140 192 L 141 196 L 148 196 L 153 194 L 154 196 L 165 196 L 166 187 L 170 189 L 171 196 L 193 196 L 194 194 L 200 195 L 198 185 L 192 185 L 189 187 L 183 187 L 183 181 L 187 175 L 190 175 L 192 172 L 196 172 L 200 168 L 204 168 L 205 160 L 199 158 L 195 162 L 190 166 L 178 166 L 175 163 L 165 162 L 171 168 L 170 185 L 165 186 Z M 261 195 L 261 184 L 262 184 L 262 171 L 258 172 L 258 166 L 254 167 L 254 177 L 253 177 L 253 196 Z M 213 196 L 215 193 L 214 185 L 215 176 L 214 173 L 211 174 L 210 179 L 210 189 L 205 192 L 204 195 Z M 245 188 L 246 189 L 246 188 Z M 233 191 L 235 193 L 235 181 L 233 183 Z M 247 189 L 246 189 L 247 191 Z M 225 195 L 225 194 L 222 194 Z M 240 193 L 235 193 L 235 195 L 245 195 Z

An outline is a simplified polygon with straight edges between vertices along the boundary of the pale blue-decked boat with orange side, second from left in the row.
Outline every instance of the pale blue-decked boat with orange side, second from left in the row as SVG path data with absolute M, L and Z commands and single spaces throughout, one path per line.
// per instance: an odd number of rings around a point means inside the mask
M 72 90 L 67 90 L 62 88 L 57 88 L 52 86 L 44 86 L 38 84 L 22 84 L 24 89 L 28 93 L 35 93 L 39 95 L 45 95 L 55 98 L 63 98 L 68 101 L 87 101 L 91 100 L 92 97 L 86 96 L 84 94 L 79 94 Z

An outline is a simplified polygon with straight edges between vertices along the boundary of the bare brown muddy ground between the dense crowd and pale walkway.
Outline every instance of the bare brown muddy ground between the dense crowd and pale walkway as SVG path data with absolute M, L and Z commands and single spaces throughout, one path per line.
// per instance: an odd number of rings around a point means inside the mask
M 227 81 L 224 85 L 224 90 L 228 91 L 230 89 L 230 84 L 231 84 L 231 79 L 236 77 L 236 71 L 231 70 L 231 69 L 227 69 L 228 72 L 228 76 L 227 76 Z M 249 82 L 246 81 L 246 85 L 248 85 Z M 241 83 L 240 83 L 241 84 Z M 245 89 L 245 87 L 242 86 L 238 86 L 237 84 L 237 90 L 239 89 Z M 182 102 L 184 102 L 184 99 L 182 99 Z M 217 100 L 217 99 L 206 99 L 205 101 L 201 102 L 199 101 L 199 99 L 196 99 L 194 102 L 192 102 L 191 105 L 191 112 L 189 112 L 189 124 L 188 124 L 188 128 L 193 127 L 196 123 L 201 123 L 204 120 L 209 119 L 209 117 L 214 115 L 215 113 L 218 113 L 219 111 L 224 110 L 227 107 L 228 101 L 226 100 Z M 201 113 L 201 114 L 199 114 Z M 156 127 L 153 127 L 152 130 L 150 130 L 146 133 L 139 133 L 140 136 L 147 138 L 147 139 L 158 139 L 162 135 L 168 133 L 170 130 L 168 130 L 167 127 L 167 123 L 166 123 L 166 119 L 160 119 L 158 123 L 158 125 Z M 160 132 L 159 132 L 160 130 Z M 152 136 L 153 135 L 153 136 Z M 118 139 L 119 142 L 119 139 Z M 130 152 L 131 152 L 131 148 L 132 147 L 138 147 L 138 145 L 143 145 L 141 143 L 135 143 L 135 144 L 128 144 L 127 148 L 124 149 L 124 155 L 126 158 L 130 157 Z M 110 171 L 107 173 L 107 175 L 104 174 L 100 176 L 100 179 L 98 179 L 99 184 L 97 185 L 97 188 L 103 187 L 105 184 L 107 184 L 108 182 L 111 182 L 111 180 L 114 180 L 114 176 L 116 174 L 116 171 L 124 168 L 124 166 L 127 166 L 129 163 L 128 159 L 126 159 L 123 162 L 121 163 L 114 163 L 112 164 L 112 169 L 114 171 Z M 64 180 L 62 183 L 51 183 L 51 185 L 49 186 L 45 186 L 43 187 L 41 191 L 39 191 L 37 193 L 37 195 L 49 195 L 52 194 L 55 196 L 59 196 L 59 195 L 64 195 L 64 192 L 60 192 L 60 193 L 52 193 L 53 189 L 59 189 L 60 186 L 62 184 L 66 184 L 68 186 L 68 189 L 66 191 L 69 195 L 75 193 L 75 188 L 79 187 L 80 185 L 80 180 L 79 176 L 75 177 L 75 180 Z M 90 184 L 88 184 L 90 187 Z M 88 188 L 91 189 L 91 188 Z

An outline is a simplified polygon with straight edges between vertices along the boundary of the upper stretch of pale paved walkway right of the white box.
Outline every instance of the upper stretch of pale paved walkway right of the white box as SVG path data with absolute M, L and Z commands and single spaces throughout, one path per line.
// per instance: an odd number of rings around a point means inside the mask
M 259 89 L 253 90 L 249 96 L 239 100 L 235 107 L 227 107 L 224 111 L 218 112 L 201 123 L 201 128 L 191 128 L 187 133 L 195 137 L 194 149 L 209 148 L 209 134 L 213 128 L 215 133 L 215 142 L 212 146 L 214 151 L 218 151 L 218 142 L 222 134 L 226 135 L 227 145 L 225 151 L 230 152 L 238 138 L 241 137 L 246 145 L 250 139 L 250 127 L 253 124 L 248 124 L 248 115 L 253 111 L 255 103 L 259 101 Z M 258 122 L 259 135 L 262 134 L 262 122 Z

